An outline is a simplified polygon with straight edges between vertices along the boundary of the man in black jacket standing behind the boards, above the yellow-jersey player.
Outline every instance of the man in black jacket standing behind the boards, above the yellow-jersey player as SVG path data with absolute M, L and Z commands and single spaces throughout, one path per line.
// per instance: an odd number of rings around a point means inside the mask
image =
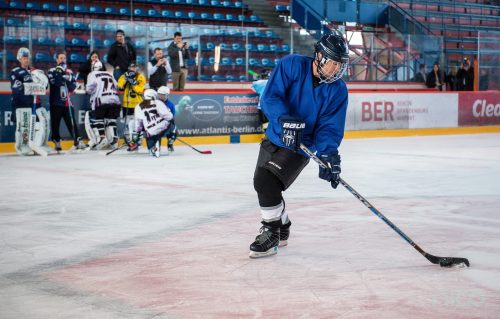
M 111 45 L 108 52 L 108 63 L 113 66 L 113 76 L 118 81 L 120 76 L 127 72 L 131 63 L 135 63 L 137 55 L 132 44 L 125 41 L 125 32 L 116 31 L 116 42 Z

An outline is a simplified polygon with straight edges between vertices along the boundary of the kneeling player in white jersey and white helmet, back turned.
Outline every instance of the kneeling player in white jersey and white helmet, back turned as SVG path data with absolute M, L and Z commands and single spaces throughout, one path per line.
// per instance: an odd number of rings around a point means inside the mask
M 135 107 L 135 133 L 132 143 L 139 142 L 144 132 L 146 144 L 151 155 L 160 157 L 161 138 L 165 136 L 173 118 L 172 112 L 161 101 L 155 100 L 156 91 L 144 91 L 144 100 Z

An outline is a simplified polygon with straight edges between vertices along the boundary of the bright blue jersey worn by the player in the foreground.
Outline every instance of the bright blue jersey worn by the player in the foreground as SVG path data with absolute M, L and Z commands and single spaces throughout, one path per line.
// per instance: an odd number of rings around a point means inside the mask
M 280 59 L 260 99 L 269 119 L 266 135 L 285 147 L 280 119 L 301 120 L 306 124 L 304 145 L 319 154 L 336 153 L 344 137 L 347 87 L 342 79 L 314 87 L 312 68 L 310 57 L 292 54 Z

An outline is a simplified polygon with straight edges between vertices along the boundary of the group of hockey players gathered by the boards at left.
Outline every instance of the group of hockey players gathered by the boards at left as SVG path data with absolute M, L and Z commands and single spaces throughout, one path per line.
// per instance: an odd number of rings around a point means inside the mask
M 68 68 L 66 54 L 56 54 L 56 66 L 47 76 L 30 66 L 31 53 L 20 48 L 19 66 L 11 72 L 13 119 L 16 122 L 15 145 L 20 155 L 48 155 L 49 135 L 55 150 L 60 152 L 59 126 L 64 119 L 73 137 L 76 150 L 104 150 L 118 147 L 117 121 L 124 123 L 123 138 L 128 151 L 137 152 L 142 138 L 151 155 L 159 157 L 161 139 L 168 139 L 168 151 L 174 150 L 176 139 L 175 105 L 168 100 L 170 89 L 159 86 L 157 91 L 145 89 L 146 78 L 135 64 L 130 64 L 119 78 L 104 71 L 100 60 L 91 59 L 91 72 L 85 79 L 85 91 L 90 95 L 90 110 L 85 113 L 85 130 L 89 143 L 85 145 L 78 132 L 70 95 L 76 89 L 77 75 Z M 41 106 L 40 96 L 50 86 L 50 115 Z M 120 102 L 118 90 L 123 90 Z M 50 125 L 49 125 L 50 123 Z M 51 134 L 52 133 L 52 134 Z

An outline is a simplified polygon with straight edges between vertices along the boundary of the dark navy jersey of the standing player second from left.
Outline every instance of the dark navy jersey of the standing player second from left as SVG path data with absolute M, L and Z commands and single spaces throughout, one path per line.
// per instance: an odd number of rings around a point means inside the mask
M 70 69 L 65 72 L 58 72 L 56 68 L 51 68 L 47 72 L 50 83 L 50 106 L 69 106 L 69 93 L 76 89 L 76 78 Z

